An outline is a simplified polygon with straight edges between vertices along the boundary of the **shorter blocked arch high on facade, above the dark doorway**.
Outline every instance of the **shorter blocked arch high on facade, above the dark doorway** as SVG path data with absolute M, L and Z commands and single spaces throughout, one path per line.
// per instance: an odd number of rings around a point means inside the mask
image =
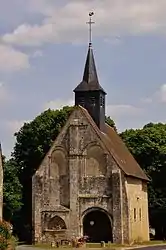
M 85 176 L 105 176 L 107 163 L 104 150 L 96 143 L 86 147 Z

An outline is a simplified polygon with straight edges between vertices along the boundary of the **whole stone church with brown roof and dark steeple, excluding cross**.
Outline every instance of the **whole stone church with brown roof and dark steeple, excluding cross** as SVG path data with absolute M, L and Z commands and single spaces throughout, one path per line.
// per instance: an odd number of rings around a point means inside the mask
M 74 92 L 74 111 L 32 179 L 33 241 L 148 241 L 148 178 L 105 123 L 91 44 Z

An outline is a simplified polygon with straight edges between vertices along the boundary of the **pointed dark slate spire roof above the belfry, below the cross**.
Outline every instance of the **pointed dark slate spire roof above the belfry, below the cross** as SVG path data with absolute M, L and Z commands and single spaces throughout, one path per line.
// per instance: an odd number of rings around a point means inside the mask
M 74 89 L 74 92 L 78 91 L 104 91 L 104 89 L 100 86 L 97 76 L 97 70 L 93 55 L 93 49 L 91 43 L 89 43 L 84 74 L 82 82 Z

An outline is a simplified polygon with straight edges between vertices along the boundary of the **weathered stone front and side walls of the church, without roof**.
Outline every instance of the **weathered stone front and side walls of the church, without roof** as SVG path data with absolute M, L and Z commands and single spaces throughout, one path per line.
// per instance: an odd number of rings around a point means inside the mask
M 83 236 L 84 217 L 98 210 L 113 242 L 147 241 L 147 182 L 120 169 L 89 118 L 75 108 L 33 176 L 33 240 Z

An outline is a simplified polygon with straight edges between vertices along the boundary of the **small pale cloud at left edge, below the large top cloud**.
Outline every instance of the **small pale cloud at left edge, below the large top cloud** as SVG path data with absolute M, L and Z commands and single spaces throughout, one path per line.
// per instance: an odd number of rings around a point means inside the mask
M 28 67 L 29 61 L 26 54 L 0 44 L 0 71 L 18 71 Z

